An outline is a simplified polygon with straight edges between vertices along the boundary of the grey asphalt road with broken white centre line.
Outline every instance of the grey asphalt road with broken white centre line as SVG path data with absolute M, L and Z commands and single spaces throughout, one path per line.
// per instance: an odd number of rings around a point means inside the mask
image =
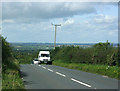
M 26 89 L 118 89 L 118 80 L 54 65 L 20 65 Z

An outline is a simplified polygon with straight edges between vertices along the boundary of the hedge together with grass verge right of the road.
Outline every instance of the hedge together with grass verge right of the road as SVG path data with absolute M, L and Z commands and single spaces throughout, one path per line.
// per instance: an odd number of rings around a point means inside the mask
M 119 46 L 119 45 L 118 45 Z M 120 54 L 108 41 L 90 48 L 62 46 L 51 51 L 53 65 L 120 79 Z

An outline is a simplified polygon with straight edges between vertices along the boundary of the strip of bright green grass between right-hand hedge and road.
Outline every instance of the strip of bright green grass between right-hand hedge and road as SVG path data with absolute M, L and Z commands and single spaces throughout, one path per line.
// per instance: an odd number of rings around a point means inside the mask
M 61 60 L 53 61 L 53 65 L 62 66 L 70 69 L 77 69 L 85 72 L 105 75 L 111 78 L 120 79 L 120 67 L 98 65 L 98 64 L 81 64 L 81 63 L 65 63 Z

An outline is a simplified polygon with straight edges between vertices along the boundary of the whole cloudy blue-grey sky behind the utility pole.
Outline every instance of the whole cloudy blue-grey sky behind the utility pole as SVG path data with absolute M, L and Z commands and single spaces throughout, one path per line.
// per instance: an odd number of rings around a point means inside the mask
M 2 35 L 8 42 L 118 42 L 117 3 L 4 2 Z

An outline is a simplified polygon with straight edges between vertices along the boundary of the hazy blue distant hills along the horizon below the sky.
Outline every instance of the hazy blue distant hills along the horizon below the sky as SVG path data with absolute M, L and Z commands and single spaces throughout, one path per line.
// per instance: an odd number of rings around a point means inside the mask
M 10 43 L 13 50 L 43 50 L 43 49 L 53 49 L 54 43 Z M 92 47 L 96 43 L 57 43 L 56 46 L 79 46 L 79 47 Z M 117 43 L 113 44 L 117 47 Z

